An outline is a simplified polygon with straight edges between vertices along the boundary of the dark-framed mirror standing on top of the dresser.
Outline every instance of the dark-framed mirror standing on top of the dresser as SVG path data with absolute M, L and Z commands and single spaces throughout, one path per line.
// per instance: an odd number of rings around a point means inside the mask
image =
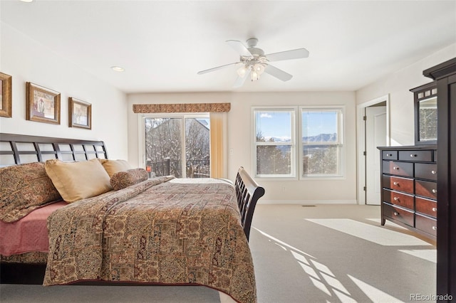
M 410 90 L 415 102 L 415 144 L 437 144 L 437 87 L 427 83 Z

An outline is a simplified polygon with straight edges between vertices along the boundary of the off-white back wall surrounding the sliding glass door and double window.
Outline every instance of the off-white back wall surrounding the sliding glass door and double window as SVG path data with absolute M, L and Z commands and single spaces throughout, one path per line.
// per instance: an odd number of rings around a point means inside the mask
M 228 178 L 234 180 L 239 166 L 252 174 L 252 106 L 345 105 L 346 179 L 318 181 L 267 181 L 260 203 L 356 203 L 356 105 L 354 92 L 207 92 L 128 95 L 128 154 L 139 164 L 138 116 L 133 104 L 230 102 L 227 115 Z

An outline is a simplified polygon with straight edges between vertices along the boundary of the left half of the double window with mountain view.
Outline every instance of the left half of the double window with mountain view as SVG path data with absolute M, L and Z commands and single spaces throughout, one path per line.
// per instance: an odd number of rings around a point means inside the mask
M 254 110 L 256 176 L 296 176 L 295 112 L 295 109 Z

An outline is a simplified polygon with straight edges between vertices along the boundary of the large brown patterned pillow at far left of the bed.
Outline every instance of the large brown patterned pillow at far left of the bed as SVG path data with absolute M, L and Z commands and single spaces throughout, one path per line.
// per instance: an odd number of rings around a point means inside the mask
M 61 200 L 41 162 L 1 168 L 0 182 L 0 220 L 4 222 L 14 222 L 36 208 Z

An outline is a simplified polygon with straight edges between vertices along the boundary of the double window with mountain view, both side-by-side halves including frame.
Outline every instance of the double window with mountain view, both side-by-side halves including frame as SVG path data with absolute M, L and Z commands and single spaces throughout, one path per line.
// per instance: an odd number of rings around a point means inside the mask
M 255 176 L 343 176 L 342 117 L 343 107 L 253 108 Z

